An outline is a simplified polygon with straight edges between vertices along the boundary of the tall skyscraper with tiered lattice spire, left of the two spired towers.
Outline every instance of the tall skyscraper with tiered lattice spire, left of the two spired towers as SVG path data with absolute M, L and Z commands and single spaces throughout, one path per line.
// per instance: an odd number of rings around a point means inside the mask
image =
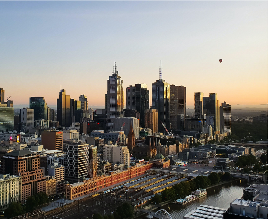
M 114 62 L 114 71 L 107 80 L 107 122 L 106 131 L 114 131 L 114 119 L 123 117 L 123 80 L 118 75 Z

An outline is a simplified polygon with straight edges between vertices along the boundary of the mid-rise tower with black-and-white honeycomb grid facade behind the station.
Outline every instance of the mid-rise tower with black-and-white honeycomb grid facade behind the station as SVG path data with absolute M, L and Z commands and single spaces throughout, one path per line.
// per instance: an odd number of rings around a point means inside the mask
M 88 175 L 89 144 L 85 142 L 74 142 L 66 144 L 65 179 L 77 182 Z

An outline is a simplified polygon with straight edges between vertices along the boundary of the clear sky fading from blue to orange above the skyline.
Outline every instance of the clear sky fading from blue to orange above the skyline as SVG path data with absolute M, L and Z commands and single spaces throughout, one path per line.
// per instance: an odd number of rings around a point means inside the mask
M 268 1 L 0 1 L 0 87 L 105 105 L 116 61 L 124 90 L 159 78 L 220 103 L 266 104 Z M 219 59 L 223 61 L 220 63 Z

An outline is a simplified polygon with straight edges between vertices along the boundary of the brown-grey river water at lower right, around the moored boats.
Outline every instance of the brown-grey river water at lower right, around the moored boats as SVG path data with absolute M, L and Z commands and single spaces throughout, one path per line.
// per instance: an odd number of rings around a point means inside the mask
M 178 205 L 170 203 L 162 207 L 169 212 L 173 219 L 183 219 L 188 212 L 196 209 L 199 205 L 210 205 L 221 208 L 229 208 L 230 202 L 243 195 L 243 187 L 247 185 L 246 180 L 236 180 L 207 190 L 207 196 L 203 196 L 196 201 L 187 205 Z M 154 210 L 156 211 L 156 210 Z M 152 216 L 144 215 L 141 219 L 152 218 Z

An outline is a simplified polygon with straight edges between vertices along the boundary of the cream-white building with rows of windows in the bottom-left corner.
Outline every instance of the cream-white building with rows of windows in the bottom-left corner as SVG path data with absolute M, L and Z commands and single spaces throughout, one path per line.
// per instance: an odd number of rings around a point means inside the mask
M 0 209 L 21 200 L 21 176 L 0 174 Z

